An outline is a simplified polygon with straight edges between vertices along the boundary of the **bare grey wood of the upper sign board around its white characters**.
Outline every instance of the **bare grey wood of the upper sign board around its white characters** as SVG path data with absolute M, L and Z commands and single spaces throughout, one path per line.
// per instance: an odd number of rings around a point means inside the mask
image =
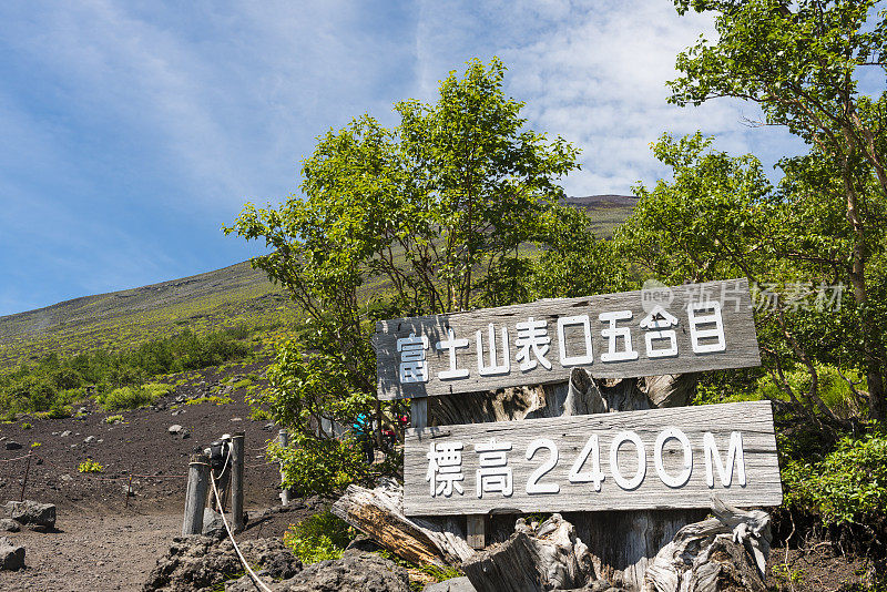
M 675 286 L 671 288 L 671 294 L 673 295 L 673 300 L 665 306 L 665 310 L 677 319 L 677 326 L 671 328 L 675 331 L 677 355 L 666 357 L 650 357 L 649 355 L 645 335 L 650 330 L 640 326 L 640 323 L 648 315 L 642 304 L 642 292 L 606 294 L 584 298 L 547 299 L 526 305 L 485 308 L 468 313 L 380 321 L 376 326 L 376 335 L 374 336 L 379 398 L 417 398 L 455 392 L 496 390 L 522 385 L 562 382 L 568 379 L 571 368 L 574 367 L 585 368 L 595 378 L 625 378 L 676 375 L 724 368 L 745 368 L 761 364 L 752 315 L 752 302 L 748 294 L 748 282 L 746 279 Z M 706 299 L 716 300 L 721 305 L 725 349 L 723 351 L 697 354 L 692 348 L 687 305 Z M 630 319 L 619 320 L 616 327 L 630 329 L 632 349 L 638 353 L 638 358 L 633 360 L 603 361 L 602 354 L 608 351 L 609 338 L 602 334 L 602 330 L 605 330 L 610 325 L 599 320 L 599 315 L 618 310 L 631 310 L 632 313 Z M 590 364 L 564 366 L 561 364 L 562 351 L 558 338 L 558 319 L 581 315 L 589 316 L 592 360 Z M 546 330 L 551 343 L 544 354 L 544 358 L 551 364 L 550 369 L 547 369 L 541 363 L 526 371 L 520 369 L 521 364 L 517 357 L 517 323 L 526 321 L 530 317 L 547 323 Z M 480 376 L 477 333 L 480 331 L 481 334 L 483 360 L 485 365 L 488 365 L 490 324 L 495 327 L 497 364 L 503 363 L 502 328 L 508 333 L 510 369 L 508 374 Z M 448 349 L 438 350 L 436 345 L 439 341 L 447 340 L 450 329 L 452 329 L 456 338 L 468 340 L 466 347 L 456 349 L 456 367 L 460 370 L 468 370 L 468 376 L 441 379 L 439 372 L 450 368 L 450 354 Z M 397 340 L 414 334 L 416 336 L 425 336 L 428 340 L 428 348 L 424 350 L 428 366 L 428 380 L 426 382 L 401 384 L 398 374 L 400 354 L 397 350 Z M 574 358 L 587 354 L 584 330 L 581 326 L 569 325 L 564 328 L 563 335 L 563 354 L 565 356 Z M 653 348 L 660 349 L 665 345 L 667 345 L 666 341 L 656 340 L 653 344 Z M 624 340 L 619 338 L 616 340 L 616 349 L 622 350 L 624 348 Z M 531 359 L 536 360 L 537 358 L 531 355 Z

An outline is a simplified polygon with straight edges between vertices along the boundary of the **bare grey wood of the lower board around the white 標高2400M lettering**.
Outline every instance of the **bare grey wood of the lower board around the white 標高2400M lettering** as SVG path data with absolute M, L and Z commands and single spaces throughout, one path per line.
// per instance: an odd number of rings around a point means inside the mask
M 663 482 L 653 461 L 654 442 L 666 428 L 679 428 L 691 443 L 690 478 L 686 484 L 677 488 Z M 614 436 L 623 430 L 635 432 L 645 449 L 646 473 L 641 484 L 632 490 L 618 484 L 610 468 L 610 445 Z M 746 484 L 738 484 L 738 473 L 734 471 L 730 486 L 723 487 L 717 470 L 713 469 L 715 482 L 713 488 L 708 488 L 703 435 L 713 433 L 721 457 L 726 462 L 733 431 L 742 432 Z M 590 482 L 568 480 L 573 462 L 591 435 L 599 437 L 601 469 L 605 476 L 600 491 L 595 491 Z M 508 468 L 511 469 L 513 491 L 508 497 L 483 492 L 479 498 L 476 488 L 479 463 L 475 445 L 489 442 L 491 438 L 497 442 L 511 443 Z M 558 484 L 557 493 L 526 491 L 530 474 L 550 456 L 547 449 L 540 449 L 532 460 L 526 459 L 528 445 L 539 438 L 551 439 L 558 448 L 557 465 L 539 480 L 540 484 Z M 460 481 L 463 493 L 453 491 L 449 497 L 431 497 L 426 480 L 429 445 L 456 441 L 463 447 L 463 480 Z M 666 474 L 680 474 L 684 453 L 676 440 L 665 442 L 662 456 Z M 736 507 L 782 503 L 773 412 L 768 401 L 410 429 L 406 435 L 404 462 L 404 511 L 407 516 L 707 508 L 713 494 Z M 635 474 L 638 460 L 634 445 L 625 442 L 619 448 L 616 466 L 626 479 Z M 591 468 L 589 459 L 581 470 Z

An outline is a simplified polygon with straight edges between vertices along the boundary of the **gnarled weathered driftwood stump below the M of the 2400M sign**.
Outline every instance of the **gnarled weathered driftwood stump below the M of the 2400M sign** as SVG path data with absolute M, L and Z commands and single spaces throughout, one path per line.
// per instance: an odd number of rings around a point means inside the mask
M 717 592 L 731 585 L 764 592 L 769 514 L 712 500 L 715 518 L 687 524 L 656 554 L 644 592 Z

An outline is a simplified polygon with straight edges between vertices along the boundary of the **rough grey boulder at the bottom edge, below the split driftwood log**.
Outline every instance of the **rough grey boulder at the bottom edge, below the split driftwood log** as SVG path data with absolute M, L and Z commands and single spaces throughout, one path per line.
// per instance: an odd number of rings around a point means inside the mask
M 261 575 L 261 574 L 259 574 Z M 274 592 L 409 592 L 407 570 L 374 553 L 346 551 L 341 559 L 308 565 L 293 578 L 272 582 Z M 225 585 L 225 592 L 255 592 L 248 575 Z

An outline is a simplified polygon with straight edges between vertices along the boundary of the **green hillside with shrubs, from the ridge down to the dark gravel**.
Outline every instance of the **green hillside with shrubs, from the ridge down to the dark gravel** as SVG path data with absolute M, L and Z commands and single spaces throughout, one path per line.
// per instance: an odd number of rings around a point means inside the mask
M 595 234 L 609 236 L 636 198 L 564 203 L 584 212 Z M 363 292 L 389 288 L 376 282 Z M 146 405 L 156 390 L 152 381 L 170 374 L 269 359 L 302 320 L 286 292 L 249 262 L 0 317 L 0 414 L 7 420 L 23 412 L 64 417 L 88 398 L 88 387 L 103 407 Z

